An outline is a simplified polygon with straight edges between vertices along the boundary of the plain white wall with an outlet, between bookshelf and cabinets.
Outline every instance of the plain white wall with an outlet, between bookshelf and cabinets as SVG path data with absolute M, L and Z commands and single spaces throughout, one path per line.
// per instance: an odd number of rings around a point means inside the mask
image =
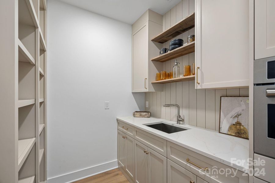
M 47 182 L 116 167 L 116 117 L 144 101 L 131 93 L 131 26 L 49 0 Z

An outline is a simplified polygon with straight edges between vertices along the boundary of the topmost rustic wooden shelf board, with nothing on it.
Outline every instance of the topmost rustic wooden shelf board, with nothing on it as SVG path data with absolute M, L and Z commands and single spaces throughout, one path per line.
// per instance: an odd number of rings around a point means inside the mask
M 176 36 L 186 32 L 187 30 L 192 29 L 193 27 L 195 27 L 195 13 L 186 16 L 184 19 L 174 24 L 169 29 L 152 38 L 151 41 L 165 43 L 172 38 L 175 38 Z

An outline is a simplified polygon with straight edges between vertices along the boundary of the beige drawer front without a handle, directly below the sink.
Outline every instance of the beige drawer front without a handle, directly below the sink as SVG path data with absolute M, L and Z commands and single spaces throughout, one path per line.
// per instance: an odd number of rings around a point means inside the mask
M 135 140 L 167 157 L 167 140 L 135 128 Z

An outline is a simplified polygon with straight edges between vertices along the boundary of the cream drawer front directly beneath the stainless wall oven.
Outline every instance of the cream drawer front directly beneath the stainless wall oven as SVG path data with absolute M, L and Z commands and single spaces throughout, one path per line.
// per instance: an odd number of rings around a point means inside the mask
M 275 183 L 275 160 L 259 154 L 254 154 L 254 160 L 257 160 L 259 163 L 263 163 L 262 165 L 254 166 L 254 176 L 262 180 Z M 261 170 L 264 170 L 265 175 L 262 174 Z

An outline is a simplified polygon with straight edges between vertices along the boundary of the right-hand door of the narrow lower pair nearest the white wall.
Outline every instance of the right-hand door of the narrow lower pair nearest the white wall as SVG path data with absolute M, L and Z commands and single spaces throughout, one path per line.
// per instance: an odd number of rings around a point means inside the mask
M 126 164 L 125 164 L 125 170 L 129 177 L 134 181 L 134 138 L 131 138 L 129 135 L 126 135 Z

